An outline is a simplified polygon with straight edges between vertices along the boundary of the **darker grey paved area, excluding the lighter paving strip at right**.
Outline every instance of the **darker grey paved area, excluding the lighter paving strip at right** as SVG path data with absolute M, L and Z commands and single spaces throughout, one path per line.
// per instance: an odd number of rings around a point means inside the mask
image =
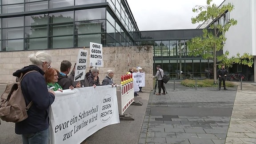
M 157 139 L 147 136 L 146 142 L 224 144 L 232 116 L 236 88 L 217 91 L 217 88 L 195 90 L 179 83 L 176 83 L 176 86 L 173 90 L 173 84 L 168 82 L 165 84 L 168 94 L 149 96 L 150 112 L 146 114 L 148 124 L 155 124 L 156 128 L 164 128 L 164 132 L 156 132 Z M 148 132 L 152 130 L 152 127 L 148 128 Z M 160 137 L 166 138 L 166 142 Z

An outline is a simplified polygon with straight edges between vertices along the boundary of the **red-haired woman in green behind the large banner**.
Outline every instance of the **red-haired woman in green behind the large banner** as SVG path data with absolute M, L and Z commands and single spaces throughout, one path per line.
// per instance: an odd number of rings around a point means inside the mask
M 57 83 L 58 82 L 58 74 L 60 72 L 55 68 L 48 68 L 48 70 L 44 74 L 44 78 L 46 81 L 47 88 L 55 87 L 53 91 L 62 91 L 61 86 Z

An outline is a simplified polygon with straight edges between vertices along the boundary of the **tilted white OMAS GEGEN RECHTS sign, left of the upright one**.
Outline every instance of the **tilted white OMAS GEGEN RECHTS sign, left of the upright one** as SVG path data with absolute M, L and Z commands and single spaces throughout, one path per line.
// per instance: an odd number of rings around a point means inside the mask
M 88 51 L 80 49 L 76 60 L 74 81 L 84 80 Z

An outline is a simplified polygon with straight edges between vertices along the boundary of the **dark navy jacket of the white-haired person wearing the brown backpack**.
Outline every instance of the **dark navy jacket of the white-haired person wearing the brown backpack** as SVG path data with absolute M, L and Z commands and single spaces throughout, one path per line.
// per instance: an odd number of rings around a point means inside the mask
M 26 104 L 33 101 L 28 109 L 28 118 L 15 124 L 16 134 L 29 134 L 40 132 L 49 127 L 49 107 L 53 103 L 55 96 L 48 92 L 44 79 L 44 71 L 36 65 L 29 65 L 17 70 L 12 75 L 20 76 L 20 73 L 26 73 L 32 70 L 37 72 L 28 73 L 21 81 L 21 89 Z

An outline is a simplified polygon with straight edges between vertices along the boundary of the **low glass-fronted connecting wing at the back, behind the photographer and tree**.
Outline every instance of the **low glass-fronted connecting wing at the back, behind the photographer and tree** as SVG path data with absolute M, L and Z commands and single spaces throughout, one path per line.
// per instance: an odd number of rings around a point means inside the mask
M 213 60 L 188 56 L 188 40 L 202 36 L 202 29 L 136 32 L 137 45 L 153 45 L 153 73 L 160 65 L 172 79 L 213 78 Z

